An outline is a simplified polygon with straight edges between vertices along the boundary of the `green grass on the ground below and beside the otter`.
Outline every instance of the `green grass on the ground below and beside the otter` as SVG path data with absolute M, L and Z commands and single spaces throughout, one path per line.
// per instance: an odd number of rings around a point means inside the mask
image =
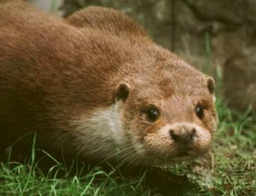
M 230 111 L 217 102 L 220 123 L 212 144 L 214 175 L 212 189 L 200 175 L 188 170 L 188 165 L 170 166 L 171 174 L 181 178 L 180 187 L 170 184 L 173 195 L 254 195 L 256 193 L 256 124 L 248 112 Z M 68 170 L 56 162 L 48 172 L 42 172 L 34 160 L 34 152 L 27 164 L 9 163 L 0 167 L 0 195 L 154 195 L 158 190 L 145 183 L 144 176 L 125 178 L 100 167 L 85 174 L 78 170 L 68 175 Z M 58 176 L 59 172 L 67 175 Z M 166 171 L 167 172 L 167 171 Z M 169 173 L 166 173 L 169 175 Z M 177 176 L 173 181 L 177 181 Z M 171 176 L 172 178 L 172 176 Z M 185 179 L 185 182 L 182 182 Z M 171 180 L 172 182 L 172 180 Z M 161 188 L 161 187 L 160 187 Z M 173 192 L 172 192 L 173 190 Z M 169 194 L 170 195 L 170 194 Z

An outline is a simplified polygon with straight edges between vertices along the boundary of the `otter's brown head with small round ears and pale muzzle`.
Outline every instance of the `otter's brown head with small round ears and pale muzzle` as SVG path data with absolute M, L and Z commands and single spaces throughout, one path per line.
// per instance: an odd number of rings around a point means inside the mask
M 169 164 L 195 159 L 209 150 L 218 114 L 214 80 L 184 63 L 138 73 L 117 85 L 123 160 Z

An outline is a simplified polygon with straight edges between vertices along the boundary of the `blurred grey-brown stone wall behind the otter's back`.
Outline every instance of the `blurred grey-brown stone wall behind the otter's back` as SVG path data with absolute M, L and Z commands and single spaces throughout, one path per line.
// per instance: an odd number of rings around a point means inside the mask
M 31 0 L 63 17 L 89 5 L 128 14 L 160 45 L 212 75 L 229 107 L 256 113 L 256 1 Z M 255 116 L 255 115 L 254 115 Z

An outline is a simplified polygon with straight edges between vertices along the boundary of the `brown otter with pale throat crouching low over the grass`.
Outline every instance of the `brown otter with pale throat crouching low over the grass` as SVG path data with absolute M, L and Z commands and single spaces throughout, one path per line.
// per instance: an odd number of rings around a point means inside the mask
M 2 2 L 1 150 L 20 138 L 26 147 L 35 132 L 46 151 L 131 165 L 209 151 L 218 124 L 213 78 L 128 16 L 88 7 L 62 19 Z

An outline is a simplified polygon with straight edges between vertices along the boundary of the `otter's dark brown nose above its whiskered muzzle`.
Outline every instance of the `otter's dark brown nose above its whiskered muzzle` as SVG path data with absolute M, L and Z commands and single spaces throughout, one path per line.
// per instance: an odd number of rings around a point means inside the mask
M 186 144 L 193 140 L 195 132 L 195 128 L 180 127 L 170 130 L 170 135 L 173 141 Z

